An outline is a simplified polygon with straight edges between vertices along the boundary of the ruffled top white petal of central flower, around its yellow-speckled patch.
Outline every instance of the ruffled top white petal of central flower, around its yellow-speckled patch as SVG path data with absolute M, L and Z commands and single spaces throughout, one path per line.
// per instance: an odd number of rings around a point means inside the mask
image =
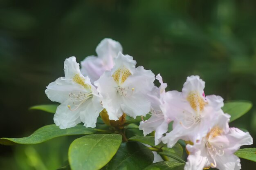
M 118 53 L 117 57 L 114 58 L 115 66 L 111 69 L 111 75 L 115 73 L 119 68 L 126 68 L 130 71 L 131 74 L 134 73 L 136 61 L 133 60 L 133 57 L 130 55 L 124 55 L 121 52 Z

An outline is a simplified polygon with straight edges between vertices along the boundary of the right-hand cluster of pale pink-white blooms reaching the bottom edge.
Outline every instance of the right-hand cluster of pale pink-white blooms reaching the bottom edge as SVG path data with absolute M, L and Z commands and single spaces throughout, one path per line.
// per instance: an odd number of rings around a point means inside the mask
M 234 152 L 252 144 L 252 137 L 249 132 L 229 128 L 230 115 L 221 109 L 222 97 L 205 96 L 205 82 L 199 76 L 187 77 L 182 92 L 165 92 L 166 84 L 159 75 L 158 80 L 161 85 L 150 94 L 152 116 L 139 126 L 144 135 L 155 130 L 155 144 L 162 141 L 170 148 L 179 139 L 186 141 L 189 156 L 184 170 L 240 170 Z M 173 130 L 167 132 L 170 122 Z

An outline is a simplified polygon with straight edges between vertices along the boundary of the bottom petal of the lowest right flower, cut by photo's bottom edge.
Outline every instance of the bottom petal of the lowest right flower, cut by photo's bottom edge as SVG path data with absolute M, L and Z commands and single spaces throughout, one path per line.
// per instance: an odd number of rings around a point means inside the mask
M 236 155 L 224 154 L 222 156 L 216 156 L 216 168 L 219 170 L 240 170 L 240 159 Z

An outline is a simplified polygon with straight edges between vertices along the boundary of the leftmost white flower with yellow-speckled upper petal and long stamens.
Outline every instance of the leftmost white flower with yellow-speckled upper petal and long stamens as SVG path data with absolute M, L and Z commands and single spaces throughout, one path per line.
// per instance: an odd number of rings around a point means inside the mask
M 81 74 L 75 57 L 65 60 L 64 71 L 65 77 L 56 79 L 45 90 L 50 100 L 61 103 L 54 115 L 54 123 L 61 129 L 76 126 L 80 122 L 94 128 L 103 110 L 97 89 L 87 76 Z

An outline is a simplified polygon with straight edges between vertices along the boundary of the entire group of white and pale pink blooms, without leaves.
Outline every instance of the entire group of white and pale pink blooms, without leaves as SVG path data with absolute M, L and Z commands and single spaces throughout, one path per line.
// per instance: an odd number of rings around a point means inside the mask
M 94 128 L 103 111 L 110 120 L 151 115 L 140 122 L 144 135 L 155 131 L 155 145 L 163 142 L 173 147 L 179 139 L 187 142 L 189 153 L 185 170 L 218 168 L 239 170 L 240 159 L 234 152 L 242 145 L 252 144 L 248 132 L 229 128 L 230 115 L 223 113 L 223 99 L 204 95 L 204 81 L 199 76 L 187 77 L 182 92 L 165 91 L 166 83 L 143 66 L 136 67 L 122 46 L 104 39 L 96 48 L 98 57 L 89 56 L 81 62 L 75 57 L 64 62 L 65 77 L 56 79 L 45 90 L 47 97 L 61 103 L 54 115 L 59 128 L 70 128 L 83 122 Z M 160 86 L 154 85 L 155 78 Z M 168 132 L 168 126 L 172 128 Z

